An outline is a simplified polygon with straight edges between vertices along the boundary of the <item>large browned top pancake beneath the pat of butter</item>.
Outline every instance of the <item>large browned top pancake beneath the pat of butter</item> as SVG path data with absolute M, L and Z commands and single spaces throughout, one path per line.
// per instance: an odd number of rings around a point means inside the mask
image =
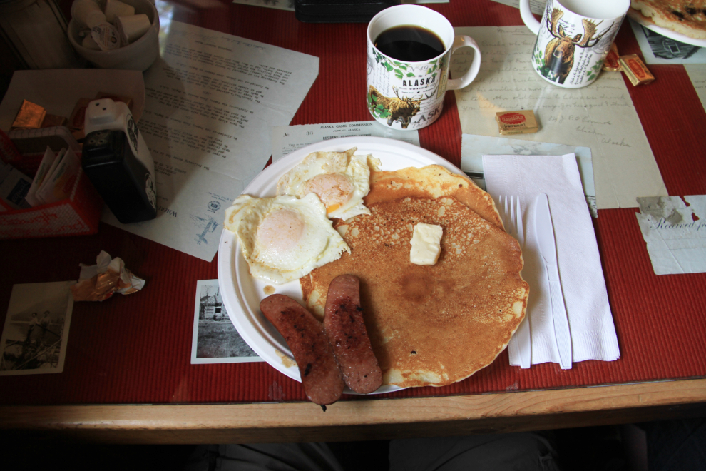
M 356 275 L 383 384 L 443 386 L 492 363 L 525 315 L 517 241 L 450 196 L 367 206 L 336 224 L 351 253 L 302 279 L 309 310 L 322 318 L 331 280 Z M 416 223 L 444 230 L 436 265 L 409 261 Z

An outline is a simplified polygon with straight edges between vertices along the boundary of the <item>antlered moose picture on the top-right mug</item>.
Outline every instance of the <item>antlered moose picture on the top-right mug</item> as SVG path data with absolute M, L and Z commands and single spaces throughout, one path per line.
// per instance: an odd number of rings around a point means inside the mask
M 548 78 L 548 80 L 564 83 L 571 69 L 573 69 L 574 50 L 578 46 L 580 48 L 593 48 L 598 41 L 603 39 L 603 36 L 612 31 L 608 28 L 598 36 L 595 35 L 598 25 L 603 23 L 591 19 L 584 18 L 583 34 L 576 34 L 571 37 L 564 32 L 563 26 L 559 24 L 559 19 L 564 15 L 564 12 L 558 8 L 551 11 L 551 18 L 546 17 L 547 28 L 554 39 L 549 41 L 544 49 L 544 64 L 539 69 L 540 73 Z

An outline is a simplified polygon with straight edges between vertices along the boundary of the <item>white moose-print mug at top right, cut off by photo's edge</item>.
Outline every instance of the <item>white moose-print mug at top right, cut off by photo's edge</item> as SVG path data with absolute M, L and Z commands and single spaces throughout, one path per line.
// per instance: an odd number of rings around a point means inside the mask
M 548 0 L 542 21 L 520 0 L 520 14 L 537 35 L 532 65 L 557 86 L 580 88 L 593 83 L 610 51 L 630 0 Z

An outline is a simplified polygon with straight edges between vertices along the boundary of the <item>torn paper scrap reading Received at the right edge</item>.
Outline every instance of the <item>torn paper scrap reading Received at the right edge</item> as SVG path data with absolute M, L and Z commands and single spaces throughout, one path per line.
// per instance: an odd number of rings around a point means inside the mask
M 706 272 L 706 195 L 638 198 L 655 275 Z

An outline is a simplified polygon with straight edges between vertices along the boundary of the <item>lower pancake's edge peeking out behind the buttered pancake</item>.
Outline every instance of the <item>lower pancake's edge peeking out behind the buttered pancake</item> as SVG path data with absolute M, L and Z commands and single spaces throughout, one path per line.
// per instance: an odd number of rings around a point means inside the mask
M 370 192 L 363 201 L 367 206 L 376 201 L 397 200 L 406 196 L 453 196 L 478 213 L 481 218 L 498 228 L 503 228 L 503 221 L 488 193 L 476 186 L 470 178 L 451 173 L 438 165 L 402 168 L 397 171 L 373 171 L 370 173 Z

